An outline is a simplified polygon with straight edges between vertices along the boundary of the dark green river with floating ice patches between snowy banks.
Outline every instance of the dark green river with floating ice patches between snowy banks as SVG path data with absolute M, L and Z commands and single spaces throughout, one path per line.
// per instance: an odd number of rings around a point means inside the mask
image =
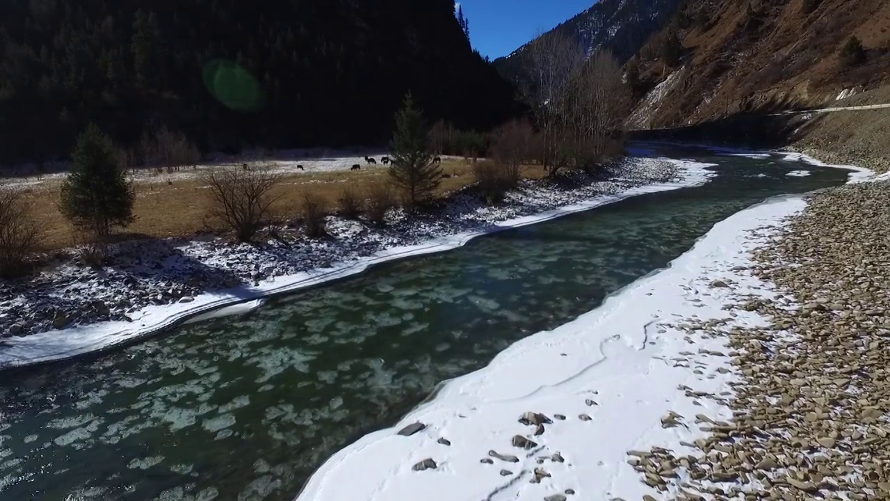
M 716 222 L 847 172 L 718 164 L 641 195 L 392 262 L 120 351 L 3 374 L 0 498 L 289 500 L 328 456 L 444 380 L 596 308 Z M 810 171 L 807 177 L 787 176 Z

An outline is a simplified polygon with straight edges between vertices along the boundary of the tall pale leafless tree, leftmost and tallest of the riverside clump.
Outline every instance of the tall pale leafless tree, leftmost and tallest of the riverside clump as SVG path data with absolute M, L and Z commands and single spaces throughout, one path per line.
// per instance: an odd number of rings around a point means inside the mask
M 584 51 L 578 40 L 560 32 L 542 34 L 529 48 L 530 85 L 527 90 L 531 107 L 543 136 L 541 163 L 554 175 L 562 167 L 554 164 L 558 129 L 564 121 L 563 98 L 571 77 L 584 62 Z

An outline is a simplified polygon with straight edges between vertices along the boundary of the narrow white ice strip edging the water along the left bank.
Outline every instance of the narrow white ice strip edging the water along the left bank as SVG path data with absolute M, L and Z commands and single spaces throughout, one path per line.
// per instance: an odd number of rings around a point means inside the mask
M 559 209 L 546 210 L 535 215 L 495 222 L 481 231 L 443 235 L 417 245 L 380 250 L 367 258 L 333 263 L 330 268 L 326 269 L 316 268 L 295 275 L 279 275 L 254 287 L 207 291 L 197 295 L 188 303 L 174 303 L 143 308 L 140 312 L 141 315 L 138 316 L 138 320 L 132 324 L 121 321 L 109 321 L 72 327 L 62 331 L 36 333 L 22 338 L 7 338 L 4 340 L 3 349 L 0 350 L 0 371 L 29 365 L 47 364 L 73 357 L 95 355 L 112 349 L 119 349 L 134 342 L 142 341 L 176 325 L 186 323 L 198 316 L 212 314 L 212 312 L 222 308 L 243 306 L 248 303 L 254 303 L 252 307 L 259 306 L 261 304 L 259 301 L 261 300 L 297 292 L 348 276 L 358 275 L 367 270 L 368 267 L 389 261 L 457 249 L 482 235 L 495 234 L 554 218 L 561 218 L 637 195 L 702 185 L 708 182 L 708 177 L 713 176 L 713 173 L 707 170 L 708 167 L 710 167 L 709 164 L 681 160 L 677 163 L 677 168 L 684 177 L 682 181 L 655 183 L 630 188 L 622 193 L 603 194 L 588 201 L 566 205 Z M 136 323 L 139 323 L 139 325 L 134 327 Z

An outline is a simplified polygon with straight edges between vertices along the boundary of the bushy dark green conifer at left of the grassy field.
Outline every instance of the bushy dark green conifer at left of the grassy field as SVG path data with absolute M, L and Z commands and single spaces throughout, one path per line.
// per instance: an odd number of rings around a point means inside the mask
M 108 136 L 90 124 L 77 138 L 71 169 L 61 186 L 60 209 L 75 226 L 104 237 L 134 221 L 132 186 L 118 167 Z

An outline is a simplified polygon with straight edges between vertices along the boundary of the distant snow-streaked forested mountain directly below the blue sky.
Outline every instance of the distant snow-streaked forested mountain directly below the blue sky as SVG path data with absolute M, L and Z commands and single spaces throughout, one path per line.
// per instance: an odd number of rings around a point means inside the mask
M 667 23 L 679 4 L 680 0 L 600 0 L 547 34 L 557 33 L 577 40 L 588 56 L 596 49 L 608 49 L 624 63 Z M 505 78 L 522 81 L 523 69 L 529 67 L 528 52 L 533 42 L 495 60 L 495 67 Z

